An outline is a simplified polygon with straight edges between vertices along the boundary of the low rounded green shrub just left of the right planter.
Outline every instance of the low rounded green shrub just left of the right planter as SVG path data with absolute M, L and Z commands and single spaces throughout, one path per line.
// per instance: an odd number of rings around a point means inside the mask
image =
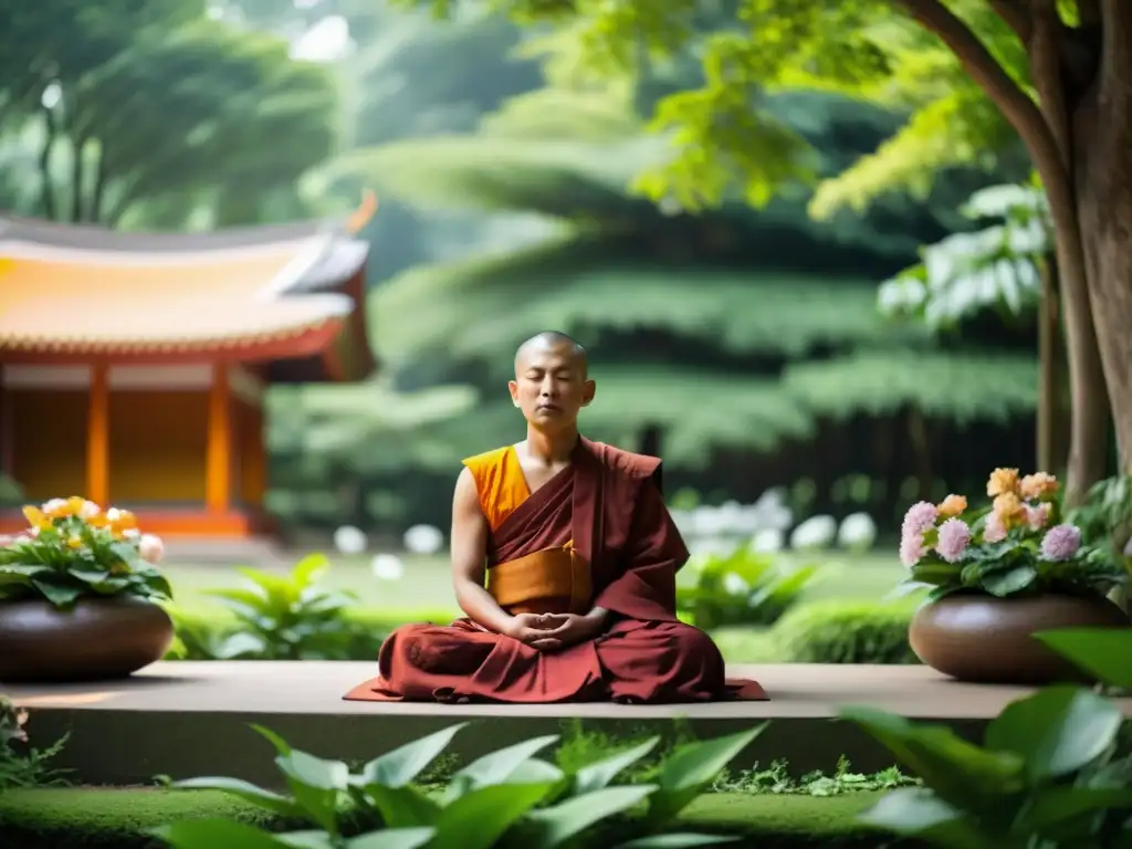
M 823 601 L 788 611 L 771 631 L 783 663 L 919 663 L 908 645 L 912 608 Z

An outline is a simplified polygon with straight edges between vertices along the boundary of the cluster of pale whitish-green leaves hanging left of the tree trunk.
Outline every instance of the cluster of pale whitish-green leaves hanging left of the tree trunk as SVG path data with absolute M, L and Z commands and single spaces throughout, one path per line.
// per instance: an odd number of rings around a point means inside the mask
M 950 328 L 994 308 L 1004 318 L 1031 312 L 1041 297 L 1041 268 L 1053 250 L 1046 196 L 1026 186 L 994 186 L 971 196 L 963 214 L 996 218 L 921 249 L 923 261 L 884 282 L 881 312 Z

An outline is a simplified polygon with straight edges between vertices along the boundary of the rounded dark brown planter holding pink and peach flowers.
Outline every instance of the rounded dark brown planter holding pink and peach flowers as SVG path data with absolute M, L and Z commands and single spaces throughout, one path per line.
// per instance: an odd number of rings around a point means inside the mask
M 1043 685 L 1087 677 L 1031 634 L 1066 627 L 1132 627 L 1108 599 L 949 595 L 912 617 L 908 642 L 927 666 L 961 681 Z

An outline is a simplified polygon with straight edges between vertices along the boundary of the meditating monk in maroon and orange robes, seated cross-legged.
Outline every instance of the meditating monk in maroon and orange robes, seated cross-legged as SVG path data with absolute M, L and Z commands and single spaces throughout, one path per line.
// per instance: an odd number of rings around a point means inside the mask
M 452 516 L 452 625 L 405 625 L 353 700 L 765 698 L 728 683 L 702 631 L 676 617 L 688 551 L 661 496 L 660 460 L 578 434 L 594 397 L 585 351 L 541 333 L 508 384 L 526 439 L 464 461 Z M 486 578 L 486 580 L 484 580 Z

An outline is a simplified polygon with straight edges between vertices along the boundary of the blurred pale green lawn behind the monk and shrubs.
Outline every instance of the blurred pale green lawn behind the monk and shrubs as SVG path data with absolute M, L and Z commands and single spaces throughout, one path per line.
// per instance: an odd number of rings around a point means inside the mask
M 300 557 L 301 555 L 297 555 Z M 783 555 L 797 563 L 808 563 L 796 555 Z M 881 550 L 867 555 L 829 555 L 826 577 L 806 593 L 807 600 L 839 599 L 876 601 L 900 581 L 901 567 L 894 554 Z M 402 557 L 404 576 L 381 581 L 374 576 L 368 558 L 331 556 L 333 564 L 324 585 L 350 590 L 361 607 L 400 611 L 429 610 L 456 612 L 447 556 Z M 230 566 L 170 565 L 168 568 L 178 606 L 188 609 L 212 606 L 207 590 L 238 585 L 242 577 Z

